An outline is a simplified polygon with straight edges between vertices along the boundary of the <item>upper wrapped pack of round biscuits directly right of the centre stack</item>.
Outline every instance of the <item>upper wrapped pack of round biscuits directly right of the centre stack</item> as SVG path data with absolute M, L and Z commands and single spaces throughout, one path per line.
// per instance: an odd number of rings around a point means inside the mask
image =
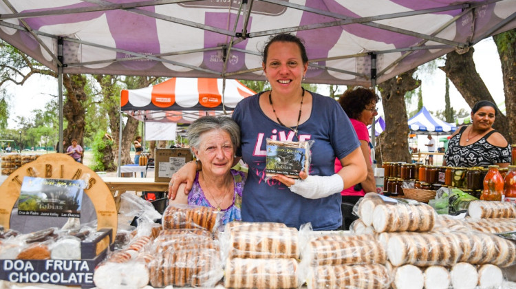
M 343 264 L 385 264 L 387 253 L 372 235 L 328 235 L 308 242 L 303 263 L 310 266 Z

